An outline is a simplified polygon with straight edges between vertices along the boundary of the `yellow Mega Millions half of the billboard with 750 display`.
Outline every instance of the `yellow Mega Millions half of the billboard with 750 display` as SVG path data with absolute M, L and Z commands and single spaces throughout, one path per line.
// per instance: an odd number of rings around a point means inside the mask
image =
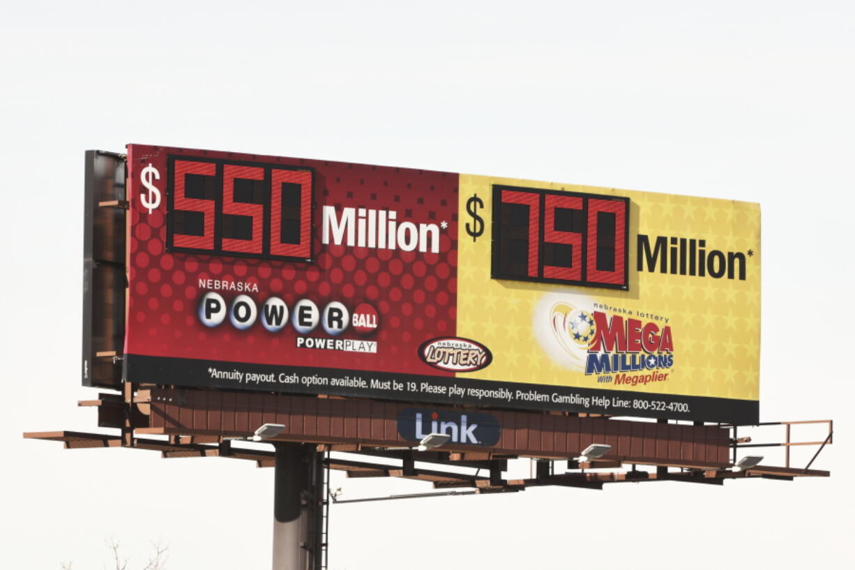
M 513 399 L 756 419 L 758 204 L 460 175 L 459 207 L 457 335 Z

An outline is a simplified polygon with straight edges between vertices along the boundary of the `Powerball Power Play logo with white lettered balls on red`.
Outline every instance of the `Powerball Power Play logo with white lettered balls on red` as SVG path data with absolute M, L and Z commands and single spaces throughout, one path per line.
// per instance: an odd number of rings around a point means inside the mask
M 226 319 L 237 330 L 250 330 L 260 323 L 264 330 L 273 334 L 281 333 L 290 324 L 298 334 L 298 348 L 377 352 L 377 342 L 365 340 L 377 330 L 379 321 L 377 310 L 369 303 L 360 303 L 351 310 L 344 303 L 333 300 L 321 309 L 310 299 L 298 300 L 289 307 L 279 297 L 268 297 L 259 307 L 247 294 L 227 301 L 221 294 L 209 291 L 199 300 L 198 318 L 209 328 L 219 327 Z M 327 337 L 310 336 L 319 326 Z M 363 338 L 339 338 L 347 330 Z

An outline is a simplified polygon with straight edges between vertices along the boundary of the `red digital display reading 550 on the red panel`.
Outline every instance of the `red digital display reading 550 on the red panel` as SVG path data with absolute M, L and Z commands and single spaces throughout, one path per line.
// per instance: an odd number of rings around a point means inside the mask
M 167 249 L 311 261 L 312 179 L 311 169 L 170 156 Z

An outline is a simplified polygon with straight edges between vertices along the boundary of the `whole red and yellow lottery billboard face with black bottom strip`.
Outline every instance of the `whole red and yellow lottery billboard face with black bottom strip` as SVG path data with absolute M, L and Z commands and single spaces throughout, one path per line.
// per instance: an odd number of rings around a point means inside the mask
M 129 145 L 127 206 L 127 381 L 758 420 L 756 204 Z

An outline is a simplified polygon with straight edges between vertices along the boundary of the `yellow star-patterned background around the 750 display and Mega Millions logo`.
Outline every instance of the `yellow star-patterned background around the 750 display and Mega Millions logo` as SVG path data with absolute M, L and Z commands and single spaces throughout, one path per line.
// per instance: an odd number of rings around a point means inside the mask
M 492 186 L 614 194 L 630 199 L 629 290 L 514 282 L 490 277 Z M 477 193 L 484 235 L 458 242 L 457 334 L 486 344 L 492 364 L 458 376 L 508 382 L 609 389 L 597 376 L 570 371 L 540 347 L 533 310 L 544 294 L 584 295 L 594 302 L 669 318 L 674 367 L 640 392 L 758 400 L 760 358 L 760 205 L 734 200 L 577 186 L 479 175 L 460 176 L 460 219 Z M 742 252 L 746 280 L 636 270 L 637 235 L 706 240 L 706 251 Z M 752 255 L 747 252 L 751 250 Z M 585 308 L 585 307 L 582 307 Z M 646 321 L 645 318 L 641 318 Z M 657 322 L 662 325 L 661 321 Z M 627 389 L 621 385 L 620 389 Z

